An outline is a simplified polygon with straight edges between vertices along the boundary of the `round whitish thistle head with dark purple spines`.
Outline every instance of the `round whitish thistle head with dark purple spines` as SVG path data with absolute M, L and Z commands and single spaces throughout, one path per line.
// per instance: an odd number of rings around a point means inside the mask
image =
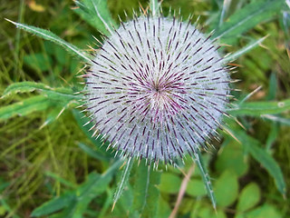
M 86 74 L 94 134 L 125 156 L 173 163 L 216 134 L 229 76 L 210 35 L 141 15 L 105 40 Z

